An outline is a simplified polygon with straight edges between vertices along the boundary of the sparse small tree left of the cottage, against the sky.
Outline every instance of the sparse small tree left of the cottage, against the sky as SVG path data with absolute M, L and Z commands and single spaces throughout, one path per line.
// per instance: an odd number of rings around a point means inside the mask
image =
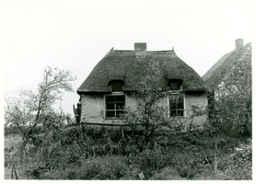
M 73 91 L 71 82 L 74 80 L 76 77 L 70 71 L 47 66 L 43 69 L 37 91 L 22 89 L 18 98 L 6 98 L 6 123 L 17 127 L 23 138 L 19 155 L 21 162 L 25 147 L 33 138 L 36 128 L 49 122 L 52 106 L 57 99 L 63 98 L 64 91 Z

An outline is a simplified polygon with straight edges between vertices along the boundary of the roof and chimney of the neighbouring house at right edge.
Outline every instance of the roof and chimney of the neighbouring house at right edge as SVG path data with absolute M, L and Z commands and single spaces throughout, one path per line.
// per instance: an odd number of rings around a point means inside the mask
M 220 89 L 223 88 L 222 86 L 225 86 L 225 83 L 235 82 L 234 80 L 236 80 L 237 84 L 246 75 L 251 75 L 251 43 L 243 45 L 242 39 L 235 40 L 235 43 L 235 50 L 221 57 L 202 76 L 208 90 L 214 92 L 215 97 L 223 92 Z

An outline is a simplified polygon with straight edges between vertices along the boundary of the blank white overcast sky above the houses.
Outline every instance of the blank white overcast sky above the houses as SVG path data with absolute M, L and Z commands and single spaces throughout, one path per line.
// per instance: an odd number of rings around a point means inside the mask
M 35 88 L 47 65 L 70 69 L 77 89 L 112 47 L 134 50 L 134 42 L 146 42 L 148 51 L 173 47 L 202 76 L 235 49 L 236 39 L 254 39 L 252 2 L 0 1 L 4 94 Z M 78 98 L 65 94 L 64 112 L 73 114 Z

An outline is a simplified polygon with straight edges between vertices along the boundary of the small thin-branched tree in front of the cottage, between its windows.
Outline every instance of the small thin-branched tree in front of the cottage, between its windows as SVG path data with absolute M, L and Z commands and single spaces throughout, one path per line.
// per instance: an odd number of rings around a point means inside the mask
M 169 92 L 168 87 L 159 86 L 160 64 L 149 63 L 146 74 L 134 93 L 137 100 L 135 109 L 126 109 L 124 121 L 130 125 L 132 135 L 130 138 L 143 151 L 155 137 L 156 130 L 160 127 L 168 127 L 169 131 L 181 130 L 181 125 L 175 117 L 169 116 L 169 108 L 161 103 Z M 142 131 L 140 135 L 138 131 Z

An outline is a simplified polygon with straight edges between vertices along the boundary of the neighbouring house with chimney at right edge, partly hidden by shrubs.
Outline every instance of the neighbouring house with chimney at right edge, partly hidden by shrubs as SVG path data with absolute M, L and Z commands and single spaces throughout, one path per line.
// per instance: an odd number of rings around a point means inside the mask
M 203 79 L 209 96 L 210 121 L 237 132 L 251 130 L 251 42 L 235 40 L 236 48 L 215 63 Z

